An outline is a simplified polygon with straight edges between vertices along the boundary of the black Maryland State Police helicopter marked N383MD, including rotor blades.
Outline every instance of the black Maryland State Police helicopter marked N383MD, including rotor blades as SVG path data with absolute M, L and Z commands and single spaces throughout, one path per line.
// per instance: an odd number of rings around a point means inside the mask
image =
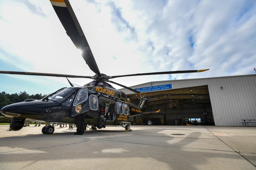
M 95 73 L 94 76 L 77 76 L 65 74 L 0 71 L 2 74 L 40 75 L 66 78 L 87 78 L 92 82 L 83 87 L 74 87 L 68 80 L 71 87 L 64 87 L 47 95 L 41 100 L 27 99 L 24 102 L 10 104 L 1 109 L 5 116 L 12 117 L 11 130 L 20 130 L 25 120 L 46 122 L 43 127 L 43 134 L 52 134 L 54 126 L 51 123 L 75 123 L 74 116 L 85 114 L 85 124 L 91 125 L 92 129 L 105 128 L 106 125 L 121 125 L 130 130 L 131 122 L 129 117 L 143 114 L 147 99 L 141 97 L 138 105 L 131 104 L 126 94 L 116 90 L 109 83 L 124 87 L 135 93 L 140 93 L 130 87 L 111 81 L 110 79 L 138 75 L 154 74 L 177 74 L 194 73 L 206 70 L 183 70 L 165 71 L 154 73 L 127 74 L 118 76 L 107 76 L 102 74 L 93 57 L 92 51 L 84 36 L 82 28 L 74 14 L 68 0 L 50 0 L 53 9 L 60 19 L 67 35 L 70 37 L 76 48 L 82 51 L 82 57 L 89 68 Z M 107 83 L 108 82 L 108 83 Z M 157 111 L 159 112 L 159 111 Z

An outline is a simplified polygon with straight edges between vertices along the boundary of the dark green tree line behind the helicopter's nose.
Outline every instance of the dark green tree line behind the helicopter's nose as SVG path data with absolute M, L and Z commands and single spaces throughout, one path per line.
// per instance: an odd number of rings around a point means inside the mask
M 13 104 L 13 103 L 18 103 L 18 102 L 23 102 L 26 99 L 41 99 L 46 95 L 42 95 L 40 94 L 33 94 L 33 95 L 29 95 L 27 92 L 21 92 L 20 93 L 14 93 L 14 94 L 8 94 L 5 91 L 0 93 L 0 109 L 8 104 Z M 0 113 L 0 116 L 3 116 Z

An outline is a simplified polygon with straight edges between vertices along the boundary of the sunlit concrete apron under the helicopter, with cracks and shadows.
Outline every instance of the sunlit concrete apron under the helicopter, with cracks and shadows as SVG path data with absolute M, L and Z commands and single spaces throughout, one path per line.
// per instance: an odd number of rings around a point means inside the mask
M 256 127 L 8 127 L 0 125 L 0 169 L 256 169 Z

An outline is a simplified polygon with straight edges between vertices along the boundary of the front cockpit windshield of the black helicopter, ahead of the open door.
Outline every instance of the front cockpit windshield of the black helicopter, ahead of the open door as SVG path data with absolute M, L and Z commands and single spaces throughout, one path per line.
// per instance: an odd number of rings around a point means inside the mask
M 74 100 L 75 93 L 75 90 L 63 89 L 56 94 L 49 96 L 48 99 L 65 106 L 70 106 Z

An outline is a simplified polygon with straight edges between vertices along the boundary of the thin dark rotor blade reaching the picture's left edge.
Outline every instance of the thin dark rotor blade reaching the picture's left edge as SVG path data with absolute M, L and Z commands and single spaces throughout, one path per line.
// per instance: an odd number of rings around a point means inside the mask
M 69 78 L 87 78 L 92 79 L 91 76 L 67 75 L 67 74 L 51 74 L 51 73 L 33 73 L 20 71 L 0 71 L 0 74 L 20 74 L 20 75 L 41 75 L 50 77 L 69 77 Z

